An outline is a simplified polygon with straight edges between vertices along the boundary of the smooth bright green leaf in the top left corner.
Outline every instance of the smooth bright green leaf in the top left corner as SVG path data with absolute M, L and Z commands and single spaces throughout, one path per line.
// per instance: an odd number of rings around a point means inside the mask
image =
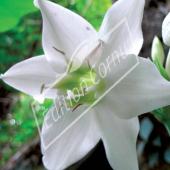
M 12 29 L 21 17 L 37 10 L 33 0 L 0 0 L 0 32 Z

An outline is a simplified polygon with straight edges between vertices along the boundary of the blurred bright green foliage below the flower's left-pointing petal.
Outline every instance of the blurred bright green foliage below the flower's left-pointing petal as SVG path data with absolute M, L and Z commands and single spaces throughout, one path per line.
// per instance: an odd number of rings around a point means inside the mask
M 30 140 L 37 137 L 37 124 L 33 115 L 31 103 L 33 98 L 23 93 L 13 96 L 13 108 L 7 113 L 6 119 L 0 123 L 0 166 L 22 146 Z M 44 117 L 43 110 L 49 109 L 52 100 L 45 100 L 43 104 L 36 104 L 36 115 L 38 116 L 38 124 L 42 125 Z M 43 109 L 41 109 L 43 107 Z

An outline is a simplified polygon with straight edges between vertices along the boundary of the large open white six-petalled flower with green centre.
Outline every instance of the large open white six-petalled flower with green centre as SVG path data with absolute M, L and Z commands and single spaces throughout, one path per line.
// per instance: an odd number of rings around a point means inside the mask
M 68 9 L 43 0 L 37 0 L 35 4 L 43 15 L 45 55 L 16 64 L 2 76 L 7 84 L 16 89 L 33 96 L 40 95 L 40 91 L 46 85 L 55 82 L 56 75 L 65 71 L 70 57 L 79 44 L 92 37 L 96 43 L 92 44 L 92 50 L 88 55 L 89 65 L 95 63 L 96 60 L 102 63 L 111 51 L 116 51 L 124 43 L 129 44 L 127 53 L 124 53 L 127 55 L 128 62 L 121 62 L 120 67 L 117 67 L 114 73 L 108 72 L 104 81 L 106 87 L 114 84 L 115 79 L 131 67 L 134 55 L 139 54 L 143 37 L 141 22 L 144 0 L 116 2 L 108 10 L 98 33 L 87 21 Z M 105 35 L 123 18 L 126 18 L 128 22 L 135 47 L 130 45 L 131 39 L 126 35 L 124 25 L 119 27 L 116 34 L 105 39 Z M 97 56 L 100 57 L 97 58 Z M 150 60 L 139 57 L 139 62 L 135 70 L 115 86 L 99 104 L 86 113 L 47 150 L 42 148 L 43 162 L 47 169 L 65 169 L 83 158 L 100 139 L 104 143 L 108 161 L 115 170 L 138 169 L 136 139 L 139 121 L 137 116 L 170 104 L 170 83 L 162 78 Z M 46 97 L 53 98 L 56 92 L 67 93 L 66 89 L 72 85 L 72 82 L 69 84 L 69 76 L 73 76 L 72 80 L 75 85 L 76 81 L 79 82 L 78 74 L 79 72 L 75 71 L 66 76 L 59 82 L 59 85 L 55 86 L 57 90 L 53 88 L 46 94 Z M 83 75 L 86 76 L 84 73 Z M 88 81 L 91 85 L 89 79 Z M 40 87 L 43 88 L 40 90 Z M 95 90 L 93 92 L 100 94 L 101 89 L 96 87 Z M 87 95 L 91 95 L 91 92 Z M 87 108 L 87 105 L 91 104 L 92 101 L 89 101 L 91 99 L 88 96 L 86 100 L 82 99 L 85 104 L 77 107 L 73 113 L 72 110 L 67 111 L 63 107 L 64 116 L 53 124 L 50 131 L 44 123 L 42 135 L 45 142 L 50 143 L 56 134 L 74 121 Z M 53 111 L 51 108 L 47 113 L 49 124 L 54 121 L 50 117 Z

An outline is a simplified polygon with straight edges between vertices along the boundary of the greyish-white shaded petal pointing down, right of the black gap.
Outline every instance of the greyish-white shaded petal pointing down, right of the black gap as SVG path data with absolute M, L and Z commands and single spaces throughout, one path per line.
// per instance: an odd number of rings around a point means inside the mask
M 123 107 L 123 106 L 122 106 Z M 110 109 L 107 100 L 96 108 L 99 115 L 102 141 L 108 161 L 114 170 L 138 170 L 136 139 L 139 133 L 138 118 L 124 120 Z

